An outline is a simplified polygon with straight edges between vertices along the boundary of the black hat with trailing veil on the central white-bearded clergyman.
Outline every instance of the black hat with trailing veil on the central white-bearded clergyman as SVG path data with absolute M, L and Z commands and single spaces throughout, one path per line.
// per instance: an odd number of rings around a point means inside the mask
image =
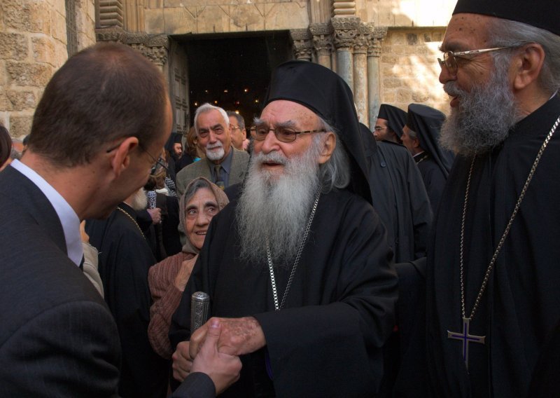
M 337 130 L 351 163 L 351 190 L 371 203 L 358 115 L 352 92 L 342 77 L 313 62 L 288 61 L 272 72 L 264 104 L 279 99 L 303 105 Z

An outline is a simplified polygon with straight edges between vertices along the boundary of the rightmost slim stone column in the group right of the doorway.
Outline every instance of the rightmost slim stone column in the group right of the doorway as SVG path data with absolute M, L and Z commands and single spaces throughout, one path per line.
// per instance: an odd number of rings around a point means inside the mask
M 387 36 L 386 27 L 372 28 L 369 40 L 370 46 L 367 48 L 367 92 L 369 92 L 367 111 L 370 119 L 370 130 L 374 127 L 377 114 L 379 114 L 379 107 L 381 106 L 379 56 L 381 55 L 381 41 L 385 36 Z

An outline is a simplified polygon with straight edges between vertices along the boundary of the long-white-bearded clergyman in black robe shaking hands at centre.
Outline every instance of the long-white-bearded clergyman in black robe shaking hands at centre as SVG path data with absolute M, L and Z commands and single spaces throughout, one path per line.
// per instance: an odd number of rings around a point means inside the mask
M 371 396 L 397 279 L 368 203 L 351 91 L 329 69 L 292 61 L 265 104 L 241 195 L 212 222 L 174 315 L 174 377 L 204 338 L 206 327 L 187 341 L 190 294 L 202 290 L 221 317 L 219 350 L 243 355 L 225 396 Z

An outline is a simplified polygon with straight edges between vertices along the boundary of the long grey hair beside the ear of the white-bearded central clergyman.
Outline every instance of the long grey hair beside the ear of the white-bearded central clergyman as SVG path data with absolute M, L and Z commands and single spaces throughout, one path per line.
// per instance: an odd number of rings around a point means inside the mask
M 321 116 L 318 116 L 318 130 L 332 132 L 336 137 L 337 145 L 335 151 L 332 152 L 330 159 L 319 167 L 319 179 L 323 185 L 323 193 L 332 191 L 332 188 L 346 188 L 350 184 L 350 161 L 346 150 L 339 140 L 339 134 L 329 123 Z M 314 144 L 320 144 L 324 139 L 323 134 L 317 134 L 314 137 Z

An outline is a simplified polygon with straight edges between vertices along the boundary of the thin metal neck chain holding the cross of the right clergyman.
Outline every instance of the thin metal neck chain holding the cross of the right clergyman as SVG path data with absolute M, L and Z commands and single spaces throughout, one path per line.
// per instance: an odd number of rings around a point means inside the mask
M 559 123 L 560 123 L 560 116 L 556 119 L 556 122 L 554 122 L 554 125 L 552 125 L 552 128 L 550 129 L 550 132 L 548 133 L 547 137 L 545 138 L 545 141 L 542 142 L 542 146 L 540 146 L 540 150 L 538 151 L 537 157 L 535 158 L 535 161 L 533 162 L 533 166 L 531 166 L 531 171 L 529 172 L 529 175 L 527 176 L 527 179 L 525 181 L 525 185 L 523 186 L 523 189 L 521 189 L 521 193 L 519 194 L 519 198 L 517 199 L 517 203 L 515 203 L 515 207 L 513 209 L 512 215 L 510 217 L 510 221 L 507 222 L 507 225 L 505 226 L 505 231 L 503 231 L 502 238 L 500 239 L 500 242 L 498 242 L 498 246 L 496 247 L 496 250 L 494 251 L 492 259 L 490 260 L 490 263 L 488 264 L 488 268 L 486 268 L 486 273 L 484 274 L 484 279 L 482 280 L 482 286 L 480 287 L 480 290 L 478 291 L 478 295 L 477 295 L 477 298 L 475 300 L 475 305 L 472 307 L 472 311 L 470 312 L 470 316 L 468 317 L 469 320 L 472 320 L 472 317 L 475 316 L 476 310 L 478 309 L 478 306 L 480 304 L 480 300 L 482 299 L 482 294 L 484 294 L 484 291 L 486 290 L 486 285 L 488 284 L 488 281 L 490 279 L 490 274 L 492 272 L 494 263 L 496 263 L 496 259 L 498 259 L 498 254 L 500 253 L 500 250 L 503 247 L 503 243 L 505 242 L 505 238 L 507 238 L 507 235 L 510 233 L 510 229 L 512 227 L 513 220 L 515 219 L 515 216 L 517 216 L 517 212 L 519 212 L 519 207 L 521 207 L 521 202 L 525 198 L 525 193 L 527 192 L 527 188 L 528 188 L 529 184 L 531 183 L 531 179 L 533 179 L 533 174 L 535 174 L 535 170 L 537 169 L 538 163 L 540 161 L 540 157 L 542 156 L 542 153 L 545 152 L 545 149 L 546 149 L 550 139 L 552 138 L 552 135 L 556 131 L 556 128 L 558 128 Z M 464 240 L 465 240 L 465 219 L 466 219 L 466 214 L 467 214 L 468 193 L 470 191 L 470 177 L 472 176 L 472 169 L 475 166 L 475 159 L 476 159 L 476 156 L 473 156 L 472 157 L 472 162 L 470 163 L 470 170 L 468 172 L 468 179 L 467 179 L 467 188 L 466 188 L 466 192 L 465 192 L 465 203 L 463 204 L 463 218 L 461 219 L 461 258 L 460 258 L 460 261 L 461 261 L 461 315 L 462 315 L 463 318 L 465 318 L 465 282 L 464 282 L 464 268 L 463 268 L 463 250 L 464 250 Z

